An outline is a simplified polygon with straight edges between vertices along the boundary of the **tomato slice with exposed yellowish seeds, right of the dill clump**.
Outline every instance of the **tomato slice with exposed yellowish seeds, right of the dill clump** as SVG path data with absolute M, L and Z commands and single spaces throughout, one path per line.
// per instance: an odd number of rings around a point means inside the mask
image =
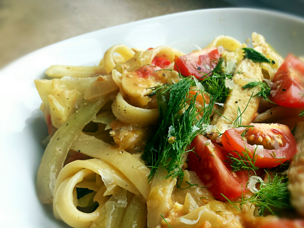
M 263 148 L 257 147 L 256 150 L 255 166 L 259 168 L 276 167 L 296 154 L 295 138 L 288 126 L 278 123 L 250 123 L 249 125 L 254 127 L 247 131 L 245 137 L 241 136 L 245 130 L 244 127 L 231 128 L 222 135 L 221 142 L 231 154 L 235 154 L 234 152 L 242 154 L 247 148 L 250 152 L 249 156 L 252 157 L 256 145 L 262 145 Z

